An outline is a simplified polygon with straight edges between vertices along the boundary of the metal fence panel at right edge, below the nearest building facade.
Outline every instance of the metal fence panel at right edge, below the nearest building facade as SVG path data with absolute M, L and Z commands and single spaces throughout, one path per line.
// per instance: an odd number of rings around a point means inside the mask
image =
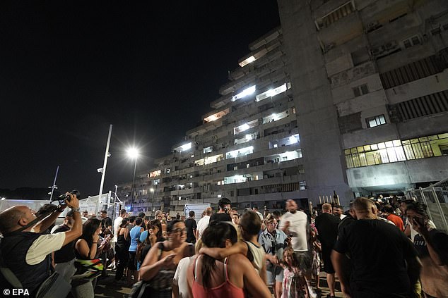
M 448 178 L 430 187 L 409 191 L 412 197 L 428 206 L 428 216 L 437 230 L 448 232 Z

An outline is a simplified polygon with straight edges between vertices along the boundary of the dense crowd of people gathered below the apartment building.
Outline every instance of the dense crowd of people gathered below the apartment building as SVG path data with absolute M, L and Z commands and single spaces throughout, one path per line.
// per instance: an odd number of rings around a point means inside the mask
M 329 294 L 336 278 L 344 297 L 448 297 L 448 235 L 413 199 L 358 197 L 348 210 L 322 204 L 312 212 L 295 200 L 285 211 L 257 206 L 238 212 L 221 198 L 196 221 L 156 211 L 112 219 L 83 214 L 76 195 L 52 213 L 15 206 L 0 213 L 0 274 L 11 275 L 35 295 L 59 273 L 69 297 L 94 297 L 106 268 L 130 297 L 322 297 L 320 270 Z M 52 223 L 68 206 L 64 223 Z M 141 295 L 141 296 L 138 296 Z M 58 296 L 59 297 L 59 296 Z M 61 296 L 65 297 L 65 296 Z

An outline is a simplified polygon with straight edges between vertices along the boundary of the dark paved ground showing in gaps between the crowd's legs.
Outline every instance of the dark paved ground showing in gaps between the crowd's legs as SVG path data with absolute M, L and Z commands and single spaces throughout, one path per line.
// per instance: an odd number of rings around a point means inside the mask
M 322 290 L 322 298 L 326 298 L 329 294 L 329 289 L 326 287 L 325 273 L 320 275 L 320 288 Z M 336 281 L 336 289 L 338 289 L 338 282 Z M 115 281 L 115 272 L 108 271 L 106 278 L 101 278 L 95 287 L 95 297 L 111 297 L 111 298 L 125 298 L 128 297 L 131 288 L 126 287 L 126 283 Z M 343 297 L 341 292 L 336 292 L 336 297 Z

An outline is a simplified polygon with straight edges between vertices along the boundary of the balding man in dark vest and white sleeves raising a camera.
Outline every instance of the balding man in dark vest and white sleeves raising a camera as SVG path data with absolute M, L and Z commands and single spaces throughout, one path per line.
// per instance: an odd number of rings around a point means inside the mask
M 51 274 L 50 254 L 81 236 L 78 198 L 76 194 L 67 193 L 64 199 L 59 201 L 64 204 L 43 219 L 37 218 L 35 211 L 27 206 L 13 206 L 0 213 L 0 233 L 3 235 L 0 242 L 1 267 L 9 268 L 31 296 L 36 294 L 42 282 Z M 40 232 L 47 230 L 66 206 L 73 211 L 71 229 L 42 235 Z M 8 288 L 3 275 L 0 275 L 0 285 Z

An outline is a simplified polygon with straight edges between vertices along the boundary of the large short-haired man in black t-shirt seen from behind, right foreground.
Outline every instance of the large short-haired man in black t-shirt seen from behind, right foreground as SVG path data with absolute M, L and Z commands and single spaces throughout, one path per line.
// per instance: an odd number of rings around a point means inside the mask
M 353 202 L 357 221 L 339 232 L 331 255 L 341 289 L 352 298 L 413 297 L 420 263 L 406 235 L 396 226 L 379 221 L 373 202 L 357 198 Z M 350 281 L 343 264 L 351 257 Z

